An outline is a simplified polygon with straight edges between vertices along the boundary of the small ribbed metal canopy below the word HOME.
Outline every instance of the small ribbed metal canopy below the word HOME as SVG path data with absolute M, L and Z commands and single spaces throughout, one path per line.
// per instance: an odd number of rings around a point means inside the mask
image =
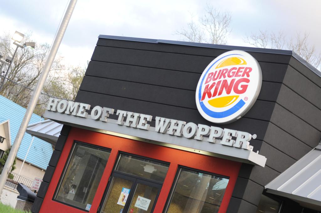
M 48 143 L 56 145 L 63 125 L 53 120 L 44 120 L 27 127 L 26 132 Z

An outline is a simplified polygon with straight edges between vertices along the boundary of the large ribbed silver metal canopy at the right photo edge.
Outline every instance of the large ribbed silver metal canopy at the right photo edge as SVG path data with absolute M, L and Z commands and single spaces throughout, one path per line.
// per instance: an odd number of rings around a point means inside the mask
M 268 193 L 290 198 L 303 207 L 321 210 L 321 144 L 268 183 Z M 317 206 L 316 206 L 317 205 Z

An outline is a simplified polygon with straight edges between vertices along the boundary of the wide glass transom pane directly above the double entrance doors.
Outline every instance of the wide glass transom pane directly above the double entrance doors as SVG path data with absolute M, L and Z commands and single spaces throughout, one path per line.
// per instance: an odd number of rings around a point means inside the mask
M 164 182 L 168 167 L 165 163 L 121 154 L 116 171 Z

